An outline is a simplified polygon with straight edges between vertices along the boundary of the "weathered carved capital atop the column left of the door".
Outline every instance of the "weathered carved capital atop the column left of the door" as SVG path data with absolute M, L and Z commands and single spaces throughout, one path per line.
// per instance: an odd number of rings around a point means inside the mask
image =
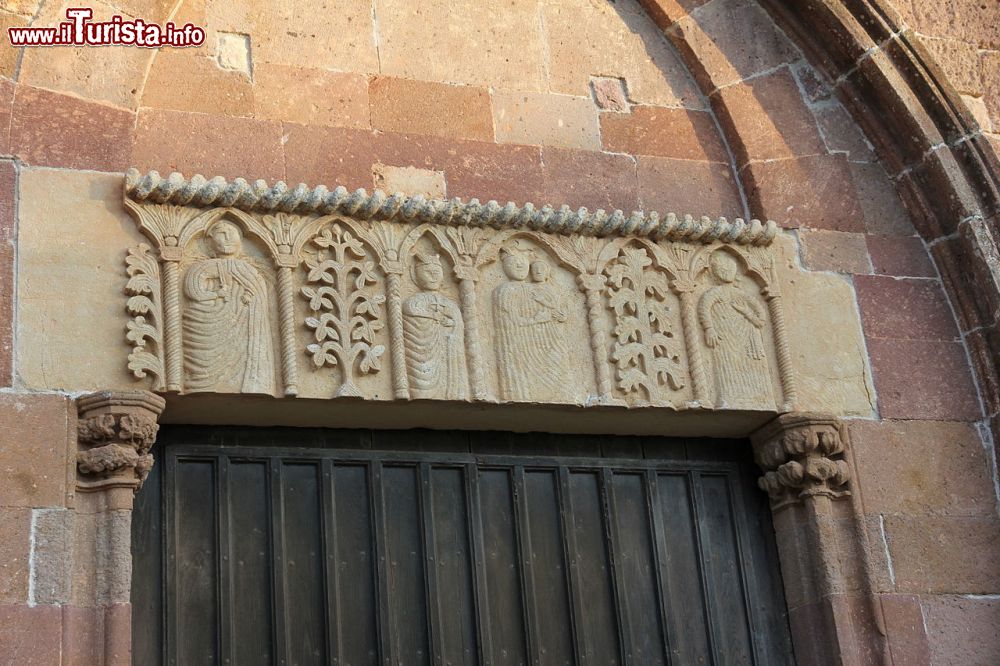
M 77 490 L 138 490 L 153 466 L 149 450 L 165 401 L 148 391 L 101 391 L 77 405 Z

